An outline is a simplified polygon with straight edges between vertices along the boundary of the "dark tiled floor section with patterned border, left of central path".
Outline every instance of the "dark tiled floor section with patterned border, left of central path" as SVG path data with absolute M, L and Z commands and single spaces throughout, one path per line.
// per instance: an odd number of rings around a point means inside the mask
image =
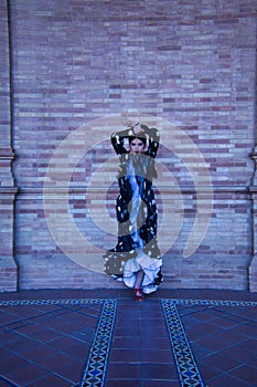
M 104 386 L 116 304 L 0 301 L 0 386 Z

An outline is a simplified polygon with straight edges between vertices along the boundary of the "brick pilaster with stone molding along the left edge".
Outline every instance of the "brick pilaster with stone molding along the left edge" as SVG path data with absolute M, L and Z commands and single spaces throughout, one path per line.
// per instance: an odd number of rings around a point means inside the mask
M 13 258 L 14 187 L 12 176 L 12 119 L 8 3 L 0 8 L 0 291 L 15 291 L 18 268 Z

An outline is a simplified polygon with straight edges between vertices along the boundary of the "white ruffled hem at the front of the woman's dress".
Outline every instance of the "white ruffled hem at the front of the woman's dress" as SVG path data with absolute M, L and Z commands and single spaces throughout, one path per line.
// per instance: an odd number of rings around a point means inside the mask
M 142 270 L 144 275 L 142 280 L 142 292 L 146 294 L 154 292 L 158 286 L 152 285 L 154 279 L 158 276 L 158 272 L 162 265 L 161 259 L 153 259 L 139 252 L 138 257 L 131 258 L 124 265 L 124 283 L 128 287 L 133 287 L 136 283 L 137 272 Z

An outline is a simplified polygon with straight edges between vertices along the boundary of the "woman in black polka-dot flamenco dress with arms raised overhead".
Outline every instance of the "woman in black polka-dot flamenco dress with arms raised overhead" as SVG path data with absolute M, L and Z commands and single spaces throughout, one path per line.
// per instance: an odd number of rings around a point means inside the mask
M 143 293 L 154 292 L 163 281 L 152 189 L 152 179 L 157 177 L 154 157 L 159 132 L 137 124 L 114 133 L 111 144 L 120 155 L 120 194 L 116 203 L 118 242 L 105 254 L 105 272 L 133 287 L 135 299 L 143 301 Z

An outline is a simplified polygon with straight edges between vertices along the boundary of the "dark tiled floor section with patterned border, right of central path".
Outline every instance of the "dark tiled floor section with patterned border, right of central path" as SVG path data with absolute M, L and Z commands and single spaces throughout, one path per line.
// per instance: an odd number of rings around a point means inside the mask
M 255 386 L 255 301 L 165 299 L 162 306 L 181 386 Z

